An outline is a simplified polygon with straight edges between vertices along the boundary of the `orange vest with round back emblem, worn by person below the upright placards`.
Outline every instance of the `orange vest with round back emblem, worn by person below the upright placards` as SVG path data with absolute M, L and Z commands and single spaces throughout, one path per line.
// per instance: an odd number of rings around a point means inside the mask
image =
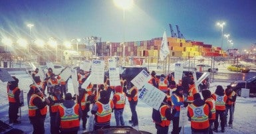
M 111 112 L 114 108 L 113 101 L 110 100 L 106 104 L 103 104 L 100 101 L 96 101 L 95 105 L 98 106 L 98 110 L 96 112 L 96 121 L 98 121 L 98 123 L 105 123 L 110 121 Z

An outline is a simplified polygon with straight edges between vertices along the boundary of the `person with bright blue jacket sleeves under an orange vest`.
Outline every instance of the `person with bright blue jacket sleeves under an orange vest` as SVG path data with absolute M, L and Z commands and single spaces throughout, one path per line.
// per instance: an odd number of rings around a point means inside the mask
M 185 97 L 183 95 L 184 88 L 182 86 L 177 86 L 177 90 L 172 92 L 173 95 L 171 96 L 172 100 L 172 108 L 176 109 L 176 113 L 174 115 L 173 121 L 173 129 L 172 134 L 180 133 L 182 127 L 179 127 L 180 121 L 180 107 L 184 105 L 184 107 L 188 106 L 188 103 L 185 101 Z

